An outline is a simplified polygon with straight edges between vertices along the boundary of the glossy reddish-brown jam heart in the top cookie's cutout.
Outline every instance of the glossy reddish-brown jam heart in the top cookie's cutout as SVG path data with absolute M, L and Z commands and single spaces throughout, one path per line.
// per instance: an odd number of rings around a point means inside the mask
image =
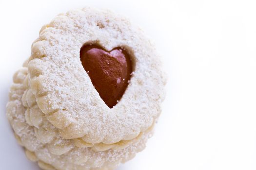
M 128 52 L 122 47 L 106 51 L 98 45 L 84 45 L 80 49 L 80 60 L 99 96 L 112 108 L 131 78 L 132 62 Z

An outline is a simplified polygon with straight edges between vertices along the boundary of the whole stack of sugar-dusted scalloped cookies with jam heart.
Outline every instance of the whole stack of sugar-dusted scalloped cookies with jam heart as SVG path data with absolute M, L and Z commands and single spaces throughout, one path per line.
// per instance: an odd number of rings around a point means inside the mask
M 152 136 L 166 83 L 144 33 L 92 8 L 43 26 L 13 81 L 7 117 L 43 170 L 114 170 L 132 159 Z

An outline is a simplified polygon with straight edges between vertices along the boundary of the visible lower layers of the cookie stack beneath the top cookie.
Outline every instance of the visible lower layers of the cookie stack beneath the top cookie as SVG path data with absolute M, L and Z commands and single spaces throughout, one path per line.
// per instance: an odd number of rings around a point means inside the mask
M 120 145 L 119 149 L 105 151 L 95 151 L 92 146 L 78 147 L 74 140 L 63 139 L 58 135 L 58 129 L 43 114 L 39 115 L 34 110 L 38 109 L 36 103 L 31 102 L 33 106 L 30 109 L 24 106 L 28 104 L 22 102 L 24 95 L 28 95 L 25 93 L 28 87 L 27 76 L 27 68 L 21 68 L 14 75 L 15 83 L 11 86 L 7 103 L 7 117 L 28 159 L 37 161 L 43 170 L 114 170 L 145 148 L 151 130 L 131 141 L 129 146 L 122 148 Z

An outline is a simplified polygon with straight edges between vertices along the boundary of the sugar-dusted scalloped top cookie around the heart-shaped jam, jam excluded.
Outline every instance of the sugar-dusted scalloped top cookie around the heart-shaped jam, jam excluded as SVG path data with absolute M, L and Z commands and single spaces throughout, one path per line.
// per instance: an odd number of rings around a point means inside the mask
M 120 47 L 131 57 L 132 76 L 112 108 L 80 61 L 80 49 L 87 44 L 106 51 Z M 161 112 L 166 80 L 153 44 L 126 18 L 106 10 L 69 11 L 42 27 L 28 70 L 40 110 L 66 139 L 105 144 L 130 140 L 150 128 Z

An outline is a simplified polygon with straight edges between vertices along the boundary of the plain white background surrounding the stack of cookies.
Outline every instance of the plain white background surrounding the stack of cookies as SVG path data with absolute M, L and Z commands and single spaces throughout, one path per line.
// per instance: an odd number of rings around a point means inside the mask
M 0 170 L 39 170 L 8 125 L 8 88 L 40 27 L 83 6 L 131 18 L 169 77 L 155 136 L 118 170 L 256 170 L 254 0 L 0 0 Z

